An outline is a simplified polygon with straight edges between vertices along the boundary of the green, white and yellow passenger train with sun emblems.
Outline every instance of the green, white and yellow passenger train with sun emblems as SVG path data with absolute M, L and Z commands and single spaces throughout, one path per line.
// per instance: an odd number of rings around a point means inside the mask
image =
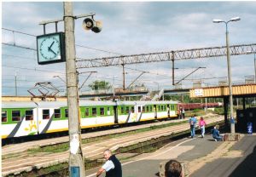
M 79 100 L 81 128 L 96 128 L 177 117 L 176 101 Z M 2 139 L 67 132 L 67 101 L 2 103 Z

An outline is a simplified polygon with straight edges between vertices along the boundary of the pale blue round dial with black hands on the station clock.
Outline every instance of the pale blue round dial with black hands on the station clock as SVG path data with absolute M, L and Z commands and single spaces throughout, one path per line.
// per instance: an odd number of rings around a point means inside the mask
M 39 51 L 45 60 L 60 59 L 60 42 L 56 37 L 45 37 L 40 43 Z

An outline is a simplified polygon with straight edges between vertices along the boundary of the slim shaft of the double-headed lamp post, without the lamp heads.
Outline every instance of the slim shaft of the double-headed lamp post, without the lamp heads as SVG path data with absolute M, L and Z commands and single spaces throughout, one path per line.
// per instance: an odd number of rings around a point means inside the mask
M 226 24 L 226 47 L 227 47 L 227 62 L 228 62 L 228 77 L 229 77 L 229 91 L 230 91 L 230 130 L 231 134 L 235 134 L 235 121 L 233 117 L 233 96 L 232 96 L 232 81 L 231 81 L 231 69 L 230 69 L 230 42 L 228 23 Z

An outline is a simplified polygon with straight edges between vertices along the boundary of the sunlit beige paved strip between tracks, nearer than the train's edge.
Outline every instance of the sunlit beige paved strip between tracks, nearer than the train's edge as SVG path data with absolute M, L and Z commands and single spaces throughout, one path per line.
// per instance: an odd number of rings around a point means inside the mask
M 206 118 L 207 124 L 216 123 L 223 120 L 224 117 L 222 116 Z M 125 146 L 136 145 L 138 143 L 146 142 L 148 140 L 154 140 L 160 137 L 170 136 L 172 134 L 178 134 L 188 130 L 188 123 L 182 123 L 174 125 L 172 127 L 154 129 L 139 134 L 129 134 L 125 136 L 120 136 L 118 138 L 111 138 L 108 140 L 82 144 L 82 150 L 84 157 L 86 159 L 98 159 L 102 158 L 102 151 L 107 148 L 115 151 L 118 150 L 119 148 L 124 148 Z M 66 141 L 66 138 L 61 138 L 58 142 L 63 141 Z M 43 142 L 38 142 L 38 144 L 42 144 Z M 31 142 L 29 144 L 31 144 Z M 28 148 L 29 146 L 27 145 L 26 147 Z M 20 172 L 24 171 L 29 172 L 32 171 L 33 169 L 46 168 L 59 163 L 67 163 L 69 157 L 69 151 L 63 151 L 59 153 L 30 154 L 27 151 L 9 151 L 9 153 L 7 153 L 7 151 L 4 151 L 4 149 L 2 160 L 3 176 L 8 176 L 9 174 L 19 174 Z M 8 157 L 8 154 L 10 157 Z

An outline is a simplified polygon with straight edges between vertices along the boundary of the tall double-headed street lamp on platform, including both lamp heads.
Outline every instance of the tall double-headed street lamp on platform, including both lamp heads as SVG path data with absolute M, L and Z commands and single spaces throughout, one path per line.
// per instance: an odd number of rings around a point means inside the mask
M 229 90 L 230 90 L 230 129 L 231 129 L 231 134 L 235 134 L 235 120 L 233 117 L 233 97 L 232 97 L 232 82 L 231 82 L 231 70 L 230 70 L 230 42 L 229 42 L 228 23 L 230 21 L 238 21 L 238 20 L 241 20 L 240 17 L 235 17 L 228 21 L 212 20 L 213 23 L 224 23 L 226 25 L 226 48 L 227 48 L 228 77 L 229 77 Z

